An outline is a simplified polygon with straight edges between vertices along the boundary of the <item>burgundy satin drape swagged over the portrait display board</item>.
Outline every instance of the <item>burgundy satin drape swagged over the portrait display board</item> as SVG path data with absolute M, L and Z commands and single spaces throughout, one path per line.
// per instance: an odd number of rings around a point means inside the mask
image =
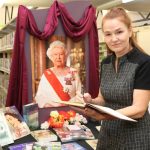
M 6 106 L 15 105 L 21 112 L 22 105 L 27 104 L 29 101 L 27 60 L 25 58 L 24 50 L 26 31 L 39 39 L 46 39 L 52 35 L 57 28 L 58 17 L 60 17 L 63 23 L 66 35 L 71 37 L 74 41 L 83 39 L 86 34 L 89 35 L 90 71 L 88 92 L 92 97 L 98 95 L 99 52 L 95 8 L 92 5 L 88 6 L 83 17 L 75 22 L 64 5 L 55 1 L 49 8 L 43 32 L 38 29 L 32 12 L 24 6 L 19 7 Z

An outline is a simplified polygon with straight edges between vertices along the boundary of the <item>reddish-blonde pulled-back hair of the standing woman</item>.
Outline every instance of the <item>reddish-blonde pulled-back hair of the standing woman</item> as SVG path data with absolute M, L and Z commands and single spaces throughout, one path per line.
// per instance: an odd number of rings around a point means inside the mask
M 103 25 L 105 20 L 107 19 L 114 19 L 114 18 L 118 18 L 121 22 L 123 22 L 128 29 L 132 30 L 132 36 L 129 39 L 129 42 L 131 44 L 131 46 L 138 48 L 139 50 L 141 50 L 142 52 L 144 52 L 144 50 L 138 45 L 134 33 L 133 33 L 133 29 L 132 29 L 132 21 L 130 19 L 130 17 L 128 16 L 128 14 L 126 13 L 126 11 L 121 8 L 121 7 L 116 7 L 116 8 L 112 8 L 109 10 L 109 12 L 103 17 L 102 19 L 102 30 L 103 30 Z M 108 46 L 107 49 L 109 52 L 112 52 Z

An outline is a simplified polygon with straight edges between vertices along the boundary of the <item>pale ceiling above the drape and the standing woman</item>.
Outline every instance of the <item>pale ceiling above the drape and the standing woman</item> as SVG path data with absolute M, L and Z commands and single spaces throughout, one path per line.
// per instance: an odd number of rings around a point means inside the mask
M 58 0 L 66 3 L 75 0 Z M 110 8 L 112 6 L 122 6 L 130 11 L 150 12 L 150 0 L 134 0 L 129 3 L 122 3 L 122 0 L 85 0 L 90 1 L 95 7 Z M 5 0 L 4 6 L 33 6 L 33 7 L 49 7 L 54 0 Z M 102 6 L 102 7 L 101 7 Z

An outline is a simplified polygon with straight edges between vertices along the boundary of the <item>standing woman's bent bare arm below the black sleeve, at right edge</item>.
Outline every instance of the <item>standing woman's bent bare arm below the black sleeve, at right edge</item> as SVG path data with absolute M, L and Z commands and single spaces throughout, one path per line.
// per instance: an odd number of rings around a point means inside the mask
M 132 105 L 117 111 L 133 119 L 141 118 L 148 109 L 149 100 L 150 90 L 135 89 Z

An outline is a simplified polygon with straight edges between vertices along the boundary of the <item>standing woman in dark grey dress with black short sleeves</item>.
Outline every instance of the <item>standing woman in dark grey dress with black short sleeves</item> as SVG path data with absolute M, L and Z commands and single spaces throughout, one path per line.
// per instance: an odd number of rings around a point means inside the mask
M 136 119 L 128 122 L 90 108 L 84 113 L 103 120 L 97 150 L 148 150 L 150 148 L 150 57 L 137 45 L 131 20 L 122 8 L 112 8 L 102 20 L 108 50 L 101 64 L 99 96 L 84 94 L 85 102 L 104 105 Z

